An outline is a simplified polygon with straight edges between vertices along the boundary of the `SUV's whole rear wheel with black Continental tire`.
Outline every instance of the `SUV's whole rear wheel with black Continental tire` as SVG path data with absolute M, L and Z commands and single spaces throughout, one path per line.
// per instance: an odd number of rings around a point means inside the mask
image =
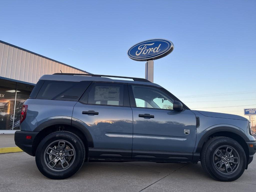
M 81 139 L 68 131 L 47 135 L 36 150 L 36 165 L 50 179 L 65 179 L 83 165 L 85 147 Z

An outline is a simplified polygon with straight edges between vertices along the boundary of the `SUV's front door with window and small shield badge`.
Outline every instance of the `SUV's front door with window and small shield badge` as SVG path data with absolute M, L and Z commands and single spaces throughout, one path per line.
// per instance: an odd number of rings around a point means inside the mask
M 196 116 L 173 110 L 164 90 L 129 84 L 133 111 L 133 159 L 191 161 L 196 143 Z

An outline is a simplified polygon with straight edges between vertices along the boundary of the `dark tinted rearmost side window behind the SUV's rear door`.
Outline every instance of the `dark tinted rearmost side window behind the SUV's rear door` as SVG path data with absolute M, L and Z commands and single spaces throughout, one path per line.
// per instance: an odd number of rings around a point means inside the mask
M 49 81 L 46 80 L 36 99 L 78 101 L 90 81 Z

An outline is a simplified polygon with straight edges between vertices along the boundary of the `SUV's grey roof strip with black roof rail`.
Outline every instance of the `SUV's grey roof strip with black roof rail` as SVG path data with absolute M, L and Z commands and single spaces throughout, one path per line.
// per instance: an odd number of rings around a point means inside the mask
M 111 76 L 114 77 L 114 76 Z M 127 78 L 127 77 L 119 77 L 119 78 Z M 130 78 L 129 78 L 130 79 Z M 133 79 L 133 78 L 131 78 Z M 136 79 L 141 79 L 141 78 L 134 78 Z M 111 79 L 109 77 L 100 77 L 99 75 L 97 76 L 88 76 L 88 75 L 80 75 L 80 74 L 52 74 L 52 75 L 43 75 L 40 77 L 39 80 L 55 80 L 55 81 L 103 81 L 103 82 L 118 82 L 118 83 L 133 83 L 133 84 L 142 84 L 142 85 L 153 85 L 156 87 L 161 87 L 158 84 L 151 83 L 148 81 L 130 81 L 130 80 L 120 80 L 120 79 Z

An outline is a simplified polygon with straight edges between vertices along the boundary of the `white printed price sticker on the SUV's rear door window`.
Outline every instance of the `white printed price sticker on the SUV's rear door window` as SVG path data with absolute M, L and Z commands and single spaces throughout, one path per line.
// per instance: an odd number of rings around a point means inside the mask
M 95 87 L 95 101 L 119 101 L 120 87 Z

